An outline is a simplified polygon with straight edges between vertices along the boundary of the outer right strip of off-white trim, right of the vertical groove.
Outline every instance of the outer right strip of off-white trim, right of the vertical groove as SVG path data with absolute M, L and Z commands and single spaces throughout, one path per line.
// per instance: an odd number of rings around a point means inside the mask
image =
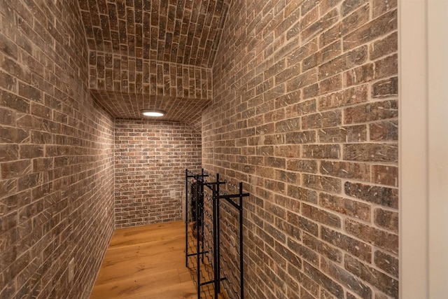
M 429 298 L 448 298 L 448 1 L 428 0 Z

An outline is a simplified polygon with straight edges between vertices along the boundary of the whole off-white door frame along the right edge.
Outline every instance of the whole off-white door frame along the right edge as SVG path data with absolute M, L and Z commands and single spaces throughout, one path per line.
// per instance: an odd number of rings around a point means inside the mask
M 400 298 L 448 298 L 448 1 L 399 1 Z

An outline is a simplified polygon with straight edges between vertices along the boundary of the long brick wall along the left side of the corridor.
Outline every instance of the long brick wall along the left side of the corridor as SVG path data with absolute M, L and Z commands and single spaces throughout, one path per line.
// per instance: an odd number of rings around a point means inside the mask
M 1 1 L 0 298 L 88 298 L 113 232 L 113 122 L 87 58 L 76 1 Z

